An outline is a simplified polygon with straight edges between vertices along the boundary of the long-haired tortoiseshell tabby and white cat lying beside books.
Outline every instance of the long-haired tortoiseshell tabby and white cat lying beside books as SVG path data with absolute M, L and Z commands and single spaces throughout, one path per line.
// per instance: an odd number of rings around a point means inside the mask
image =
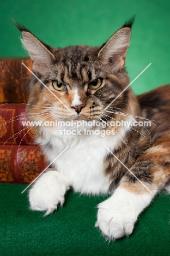
M 139 214 L 170 181 L 170 86 L 139 96 L 128 86 L 125 58 L 133 21 L 101 47 L 56 49 L 16 23 L 36 76 L 29 83 L 29 120 L 70 122 L 34 126 L 47 161 L 56 160 L 29 190 L 31 209 L 52 213 L 71 188 L 108 194 L 95 226 L 109 240 L 129 236 Z

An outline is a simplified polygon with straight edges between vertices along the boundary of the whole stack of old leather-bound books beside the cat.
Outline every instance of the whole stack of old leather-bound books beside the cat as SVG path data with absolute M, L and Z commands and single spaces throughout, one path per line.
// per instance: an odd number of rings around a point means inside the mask
M 30 59 L 0 60 L 0 182 L 31 183 L 47 166 L 28 121 Z

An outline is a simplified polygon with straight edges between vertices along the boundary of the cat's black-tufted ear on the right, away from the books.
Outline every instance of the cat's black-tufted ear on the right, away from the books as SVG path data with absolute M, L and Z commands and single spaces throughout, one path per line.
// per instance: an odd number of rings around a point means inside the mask
M 131 27 L 135 20 L 133 16 L 130 20 L 113 34 L 113 36 L 101 46 L 98 58 L 102 62 L 112 65 L 113 69 L 118 70 L 125 66 L 125 58 L 130 43 Z

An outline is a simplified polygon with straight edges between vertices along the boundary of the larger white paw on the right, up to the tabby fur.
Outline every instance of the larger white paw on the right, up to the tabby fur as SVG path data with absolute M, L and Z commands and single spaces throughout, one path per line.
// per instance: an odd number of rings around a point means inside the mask
M 149 204 L 150 195 L 136 195 L 118 188 L 106 201 L 98 205 L 98 226 L 110 240 L 129 236 L 139 213 Z

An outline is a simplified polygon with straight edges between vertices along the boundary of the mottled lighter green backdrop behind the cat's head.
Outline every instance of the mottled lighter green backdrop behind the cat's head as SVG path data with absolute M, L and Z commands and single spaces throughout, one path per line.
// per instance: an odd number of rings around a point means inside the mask
M 170 82 L 170 1 L 7 0 L 0 5 L 0 57 L 27 56 L 12 19 L 54 47 L 102 45 L 133 14 L 126 67 L 136 94 Z

